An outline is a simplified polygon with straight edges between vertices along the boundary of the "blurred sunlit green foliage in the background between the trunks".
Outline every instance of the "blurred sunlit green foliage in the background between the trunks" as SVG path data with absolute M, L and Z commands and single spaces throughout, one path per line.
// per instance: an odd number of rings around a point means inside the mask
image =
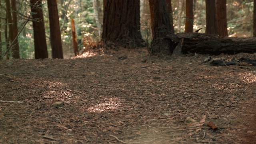
M 96 4 L 96 1 L 100 3 Z M 22 28 L 30 12 L 30 5 L 27 0 L 17 0 L 18 29 Z M 76 24 L 76 34 L 78 48 L 80 52 L 85 46 L 98 43 L 103 23 L 103 0 L 57 0 L 60 30 L 62 38 L 62 48 L 64 58 L 74 56 L 72 43 L 71 19 Z M 174 33 L 185 31 L 185 0 L 172 0 L 172 14 Z M 206 28 L 206 8 L 205 0 L 194 0 L 194 31 L 202 28 L 201 33 Z M 227 24 L 229 37 L 251 37 L 253 28 L 253 0 L 227 0 Z M 48 18 L 48 7 L 46 0 L 43 1 L 43 14 L 46 32 L 46 42 L 48 46 L 48 56 L 51 58 L 50 46 L 50 26 Z M 100 16 L 102 15 L 102 16 Z M 98 25 L 97 25 L 98 24 Z M 142 38 L 150 43 L 150 9 L 148 0 L 140 0 L 140 24 Z M 6 51 L 6 6 L 1 2 L 1 46 L 2 52 Z M 24 30 L 18 37 L 20 58 L 34 58 L 34 39 L 32 22 L 26 24 Z

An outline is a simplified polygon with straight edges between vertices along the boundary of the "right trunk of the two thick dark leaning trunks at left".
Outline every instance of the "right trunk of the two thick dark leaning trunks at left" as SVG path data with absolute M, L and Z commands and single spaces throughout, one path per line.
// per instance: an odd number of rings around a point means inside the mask
M 57 1 L 47 0 L 47 2 L 48 2 L 48 11 L 49 11 L 49 20 L 50 20 L 52 58 L 63 58 Z

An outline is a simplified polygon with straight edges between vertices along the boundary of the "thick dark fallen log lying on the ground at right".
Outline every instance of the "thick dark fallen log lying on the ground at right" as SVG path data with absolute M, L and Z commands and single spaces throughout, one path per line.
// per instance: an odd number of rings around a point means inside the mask
M 236 53 L 255 53 L 256 38 L 228 38 L 214 34 L 202 33 L 178 33 L 176 36 L 169 36 L 182 54 L 200 53 L 218 55 Z

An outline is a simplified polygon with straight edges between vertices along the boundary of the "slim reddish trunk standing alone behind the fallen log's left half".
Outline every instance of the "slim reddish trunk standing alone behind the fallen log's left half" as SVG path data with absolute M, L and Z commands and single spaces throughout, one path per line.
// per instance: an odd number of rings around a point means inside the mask
M 193 0 L 186 0 L 186 22 L 185 32 L 193 32 Z

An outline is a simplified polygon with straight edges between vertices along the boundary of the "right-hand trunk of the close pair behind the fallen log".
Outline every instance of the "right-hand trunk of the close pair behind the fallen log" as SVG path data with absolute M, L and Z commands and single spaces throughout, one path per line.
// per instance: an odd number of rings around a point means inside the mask
M 226 0 L 217 0 L 216 11 L 219 36 L 228 36 Z

